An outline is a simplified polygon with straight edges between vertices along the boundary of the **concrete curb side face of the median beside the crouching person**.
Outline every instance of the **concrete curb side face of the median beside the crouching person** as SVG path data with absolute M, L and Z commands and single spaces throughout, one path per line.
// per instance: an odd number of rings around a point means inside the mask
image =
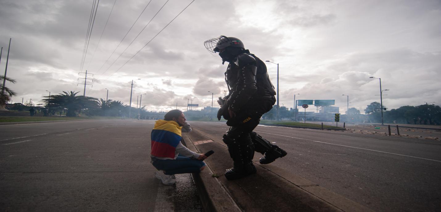
M 182 134 L 183 141 L 191 151 L 198 152 L 187 133 Z M 186 142 L 187 141 L 187 142 Z M 205 170 L 201 173 L 192 173 L 194 182 L 201 197 L 202 206 L 205 211 L 214 212 L 240 212 L 242 211 L 235 203 L 231 195 L 222 186 L 213 171 L 206 163 Z

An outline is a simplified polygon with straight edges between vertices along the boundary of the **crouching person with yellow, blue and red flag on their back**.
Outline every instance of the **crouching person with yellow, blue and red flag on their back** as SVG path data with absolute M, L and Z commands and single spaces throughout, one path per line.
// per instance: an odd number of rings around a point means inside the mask
M 205 168 L 204 154 L 191 151 L 181 143 L 181 129 L 186 119 L 180 110 L 171 110 L 164 120 L 157 120 L 152 130 L 151 163 L 158 170 L 155 177 L 165 185 L 176 183 L 175 174 L 197 173 Z

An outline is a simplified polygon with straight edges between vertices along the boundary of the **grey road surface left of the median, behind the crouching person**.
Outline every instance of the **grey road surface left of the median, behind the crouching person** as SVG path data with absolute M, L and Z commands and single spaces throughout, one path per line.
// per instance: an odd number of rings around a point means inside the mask
M 202 211 L 190 174 L 164 186 L 154 120 L 0 126 L 0 211 Z

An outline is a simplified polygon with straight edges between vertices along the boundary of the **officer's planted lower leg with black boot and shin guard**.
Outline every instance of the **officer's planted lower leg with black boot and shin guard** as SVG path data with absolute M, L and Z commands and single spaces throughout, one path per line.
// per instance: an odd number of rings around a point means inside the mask
M 256 173 L 256 167 L 252 162 L 254 146 L 249 136 L 239 140 L 224 135 L 222 140 L 228 145 L 228 152 L 234 162 L 233 167 L 225 171 L 225 178 L 234 180 Z

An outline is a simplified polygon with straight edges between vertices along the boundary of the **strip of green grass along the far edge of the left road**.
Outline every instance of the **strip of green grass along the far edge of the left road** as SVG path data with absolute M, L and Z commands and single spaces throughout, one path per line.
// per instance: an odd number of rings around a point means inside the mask
M 33 121 L 56 121 L 56 120 L 87 120 L 87 119 L 121 119 L 113 116 L 0 116 L 0 122 L 33 122 Z

